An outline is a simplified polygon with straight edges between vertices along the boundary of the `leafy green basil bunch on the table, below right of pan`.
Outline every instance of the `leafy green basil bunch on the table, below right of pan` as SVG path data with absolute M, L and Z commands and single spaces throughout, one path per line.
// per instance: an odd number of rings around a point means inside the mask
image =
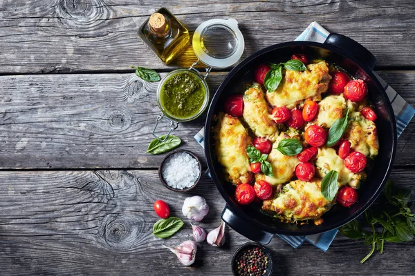
M 371 245 L 369 254 L 360 261 L 362 264 L 376 248 L 382 253 L 385 242 L 411 242 L 415 237 L 415 214 L 407 206 L 411 190 L 398 188 L 389 180 L 382 194 L 385 197 L 379 197 L 378 202 L 365 211 L 366 221 L 354 219 L 339 228 L 345 237 L 365 239 L 365 244 Z M 371 231 L 362 226 L 369 226 Z

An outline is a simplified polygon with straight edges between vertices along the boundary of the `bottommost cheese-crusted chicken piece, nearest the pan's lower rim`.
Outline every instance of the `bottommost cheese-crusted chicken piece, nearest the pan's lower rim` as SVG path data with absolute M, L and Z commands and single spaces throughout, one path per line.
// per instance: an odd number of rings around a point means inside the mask
M 277 213 L 284 221 L 319 219 L 331 208 L 321 193 L 321 183 L 321 179 L 291 181 L 275 199 L 263 201 L 262 209 Z

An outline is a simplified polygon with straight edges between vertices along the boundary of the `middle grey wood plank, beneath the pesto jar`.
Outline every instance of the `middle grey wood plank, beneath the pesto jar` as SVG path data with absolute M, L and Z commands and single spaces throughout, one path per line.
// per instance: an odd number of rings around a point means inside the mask
M 414 105 L 415 71 L 379 73 Z M 212 94 L 225 75 L 208 77 Z M 157 168 L 164 155 L 145 153 L 160 114 L 156 87 L 133 74 L 0 77 L 0 168 Z M 204 120 L 174 132 L 203 161 L 193 137 Z M 412 122 L 398 141 L 396 165 L 415 164 L 414 132 Z

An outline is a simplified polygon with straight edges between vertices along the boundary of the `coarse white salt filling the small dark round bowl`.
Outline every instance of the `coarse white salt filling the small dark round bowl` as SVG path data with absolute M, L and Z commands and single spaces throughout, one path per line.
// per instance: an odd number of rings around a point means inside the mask
M 161 174 L 167 185 L 181 190 L 192 186 L 200 173 L 196 159 L 186 152 L 171 155 L 161 168 Z

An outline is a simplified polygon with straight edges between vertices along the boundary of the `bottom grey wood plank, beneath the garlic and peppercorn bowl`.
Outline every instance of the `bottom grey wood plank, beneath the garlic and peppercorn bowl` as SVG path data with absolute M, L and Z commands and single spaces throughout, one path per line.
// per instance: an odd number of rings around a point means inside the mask
M 415 188 L 415 170 L 393 170 L 398 186 Z M 222 248 L 199 244 L 194 266 L 182 266 L 162 247 L 192 239 L 181 214 L 185 197 L 203 195 L 210 213 L 200 225 L 220 224 L 225 201 L 207 177 L 191 193 L 160 184 L 156 170 L 0 172 L 0 270 L 2 275 L 231 275 L 230 259 L 248 242 L 227 226 Z M 152 205 L 165 200 L 185 226 L 169 239 L 151 235 Z M 338 234 L 324 253 L 304 242 L 297 249 L 275 237 L 274 275 L 409 275 L 414 242 L 385 244 L 364 265 L 362 240 Z M 311 269 L 312 268 L 312 269 Z

